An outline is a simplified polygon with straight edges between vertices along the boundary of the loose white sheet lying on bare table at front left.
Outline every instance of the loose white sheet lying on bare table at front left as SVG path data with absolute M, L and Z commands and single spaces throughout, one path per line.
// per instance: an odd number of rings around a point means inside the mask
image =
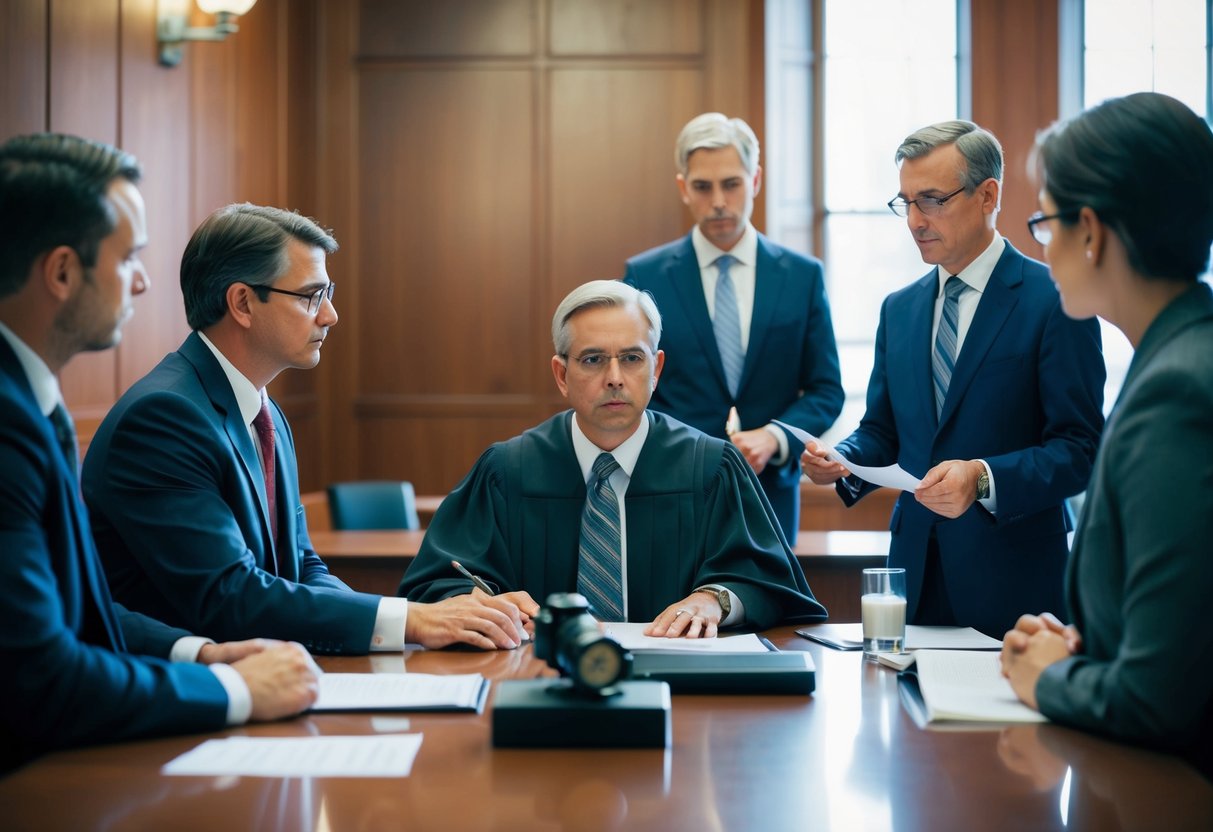
M 421 734 L 389 736 L 232 736 L 207 740 L 163 774 L 251 777 L 406 777 Z

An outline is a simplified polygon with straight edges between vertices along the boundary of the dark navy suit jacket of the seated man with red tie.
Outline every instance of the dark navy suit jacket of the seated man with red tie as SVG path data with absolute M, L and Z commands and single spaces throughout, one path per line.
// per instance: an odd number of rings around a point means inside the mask
M 366 653 L 378 597 L 312 548 L 295 441 L 277 404 L 278 540 L 249 428 L 197 334 L 110 409 L 84 462 L 84 496 L 114 597 L 218 640 L 268 637 Z

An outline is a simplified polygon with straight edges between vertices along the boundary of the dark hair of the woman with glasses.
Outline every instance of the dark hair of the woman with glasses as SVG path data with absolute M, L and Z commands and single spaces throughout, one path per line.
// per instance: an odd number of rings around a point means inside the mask
M 1145 278 L 1196 280 L 1213 241 L 1213 132 L 1158 92 L 1111 98 L 1036 137 L 1061 222 L 1089 207 Z

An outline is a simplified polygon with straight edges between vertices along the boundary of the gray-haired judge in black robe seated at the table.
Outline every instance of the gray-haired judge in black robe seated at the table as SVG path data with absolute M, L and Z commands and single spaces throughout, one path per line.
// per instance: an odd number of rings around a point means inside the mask
M 573 290 L 552 318 L 552 375 L 571 410 L 480 456 L 400 594 L 482 595 L 459 560 L 524 612 L 580 592 L 599 619 L 647 622 L 650 636 L 825 619 L 738 449 L 647 410 L 660 338 L 644 292 L 617 280 Z

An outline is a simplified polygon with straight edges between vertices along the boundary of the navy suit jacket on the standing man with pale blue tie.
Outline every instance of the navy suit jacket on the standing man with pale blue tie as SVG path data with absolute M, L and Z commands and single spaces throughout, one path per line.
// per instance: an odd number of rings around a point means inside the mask
M 653 295 L 661 312 L 666 365 L 653 394 L 654 410 L 717 438 L 724 438 L 734 405 L 745 429 L 778 418 L 815 435 L 842 412 L 838 348 L 816 260 L 758 235 L 750 343 L 736 398 L 724 378 L 690 234 L 628 260 L 623 280 Z M 767 466 L 758 481 L 795 543 L 803 445 L 791 434 L 787 445 L 784 465 Z

